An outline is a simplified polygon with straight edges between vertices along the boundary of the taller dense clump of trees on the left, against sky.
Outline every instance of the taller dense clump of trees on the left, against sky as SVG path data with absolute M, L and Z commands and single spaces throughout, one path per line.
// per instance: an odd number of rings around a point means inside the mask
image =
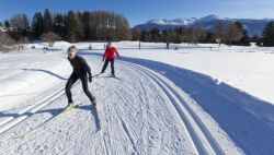
M 16 41 L 25 39 L 81 40 L 128 40 L 130 26 L 126 17 L 106 11 L 69 11 L 66 14 L 36 12 L 31 20 L 25 14 L 16 14 L 5 21 L 10 34 Z

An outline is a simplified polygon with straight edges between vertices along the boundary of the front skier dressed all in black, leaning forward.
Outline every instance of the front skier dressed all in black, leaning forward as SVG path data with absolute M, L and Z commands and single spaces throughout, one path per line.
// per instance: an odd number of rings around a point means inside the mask
M 79 79 L 81 80 L 84 94 L 89 97 L 91 104 L 95 106 L 95 97 L 90 93 L 89 87 L 88 87 L 88 80 L 89 82 L 92 82 L 90 67 L 88 65 L 87 61 L 82 57 L 76 55 L 76 51 L 77 49 L 75 46 L 69 47 L 67 50 L 68 60 L 73 68 L 73 71 L 66 84 L 66 95 L 68 97 L 67 107 L 69 107 L 73 103 L 70 88 Z M 89 78 L 87 74 L 89 74 Z

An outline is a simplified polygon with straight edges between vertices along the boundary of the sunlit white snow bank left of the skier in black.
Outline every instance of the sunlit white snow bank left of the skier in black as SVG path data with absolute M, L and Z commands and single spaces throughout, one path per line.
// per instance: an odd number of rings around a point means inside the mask
M 0 58 L 0 110 L 9 109 L 66 81 L 71 67 L 66 55 L 18 51 Z

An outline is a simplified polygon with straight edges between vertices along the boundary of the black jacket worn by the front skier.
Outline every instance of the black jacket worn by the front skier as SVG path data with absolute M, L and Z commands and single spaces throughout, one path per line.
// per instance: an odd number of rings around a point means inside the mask
M 76 55 L 76 57 L 72 60 L 70 60 L 69 58 L 68 60 L 70 64 L 72 65 L 75 73 L 77 73 L 78 75 L 81 75 L 81 74 L 87 74 L 88 72 L 89 78 L 91 78 L 90 67 L 88 65 L 87 61 L 82 57 Z

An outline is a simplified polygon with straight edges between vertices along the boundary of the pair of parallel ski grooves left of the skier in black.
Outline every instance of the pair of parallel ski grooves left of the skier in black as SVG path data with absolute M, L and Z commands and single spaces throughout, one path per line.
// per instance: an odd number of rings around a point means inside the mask
M 79 83 L 79 81 L 75 85 L 77 85 L 78 83 Z M 3 121 L 0 122 L 0 134 L 7 132 L 11 128 L 19 124 L 20 122 L 22 122 L 25 119 L 30 118 L 36 111 L 38 111 L 39 109 L 46 107 L 47 105 L 49 105 L 54 100 L 58 99 L 64 94 L 65 94 L 65 91 L 64 91 L 64 87 L 61 86 L 60 88 L 58 88 L 57 91 L 55 91 L 50 95 L 44 97 L 43 99 L 41 99 L 36 104 L 33 104 L 32 106 L 28 106 L 23 110 L 20 110 L 16 114 L 18 117 L 9 117 L 9 118 L 4 119 Z

